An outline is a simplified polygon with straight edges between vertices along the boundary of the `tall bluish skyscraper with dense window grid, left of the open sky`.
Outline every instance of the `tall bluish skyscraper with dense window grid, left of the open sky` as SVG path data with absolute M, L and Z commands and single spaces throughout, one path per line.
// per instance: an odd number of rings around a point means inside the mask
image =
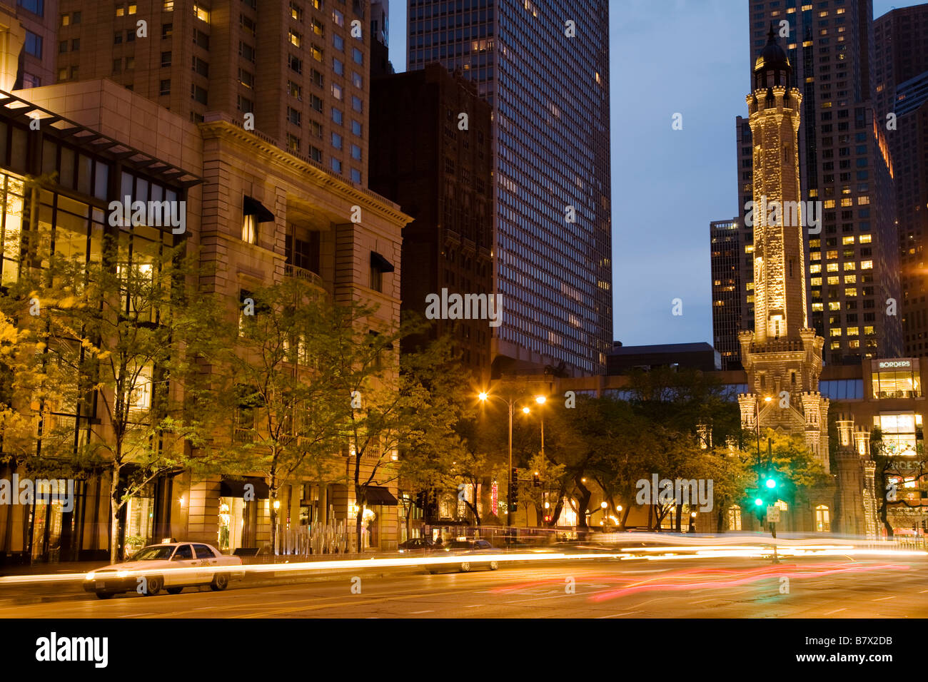
M 494 371 L 601 374 L 612 345 L 609 3 L 408 0 L 407 65 L 493 107 Z

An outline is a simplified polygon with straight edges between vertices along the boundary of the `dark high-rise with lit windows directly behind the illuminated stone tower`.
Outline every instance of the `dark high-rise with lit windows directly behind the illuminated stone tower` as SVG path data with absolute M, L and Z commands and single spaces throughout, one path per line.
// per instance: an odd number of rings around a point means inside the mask
M 789 84 L 803 95 L 797 200 L 813 202 L 801 212 L 810 327 L 825 338 L 831 364 L 896 355 L 901 324 L 890 302 L 900 297 L 896 202 L 870 77 L 872 2 L 749 0 L 748 6 L 752 66 L 772 25 L 790 58 Z M 737 139 L 743 220 L 753 199 L 755 148 L 744 119 Z

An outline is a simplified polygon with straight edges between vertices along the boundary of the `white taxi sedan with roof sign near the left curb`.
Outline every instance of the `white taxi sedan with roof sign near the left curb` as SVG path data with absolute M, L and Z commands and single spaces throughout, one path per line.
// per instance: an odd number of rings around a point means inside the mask
M 241 566 L 241 558 L 202 542 L 165 542 L 142 547 L 128 561 L 87 573 L 84 590 L 96 592 L 101 599 L 121 592 L 157 595 L 161 587 L 172 595 L 199 585 L 219 591 L 245 575 L 244 571 L 215 571 L 219 566 Z

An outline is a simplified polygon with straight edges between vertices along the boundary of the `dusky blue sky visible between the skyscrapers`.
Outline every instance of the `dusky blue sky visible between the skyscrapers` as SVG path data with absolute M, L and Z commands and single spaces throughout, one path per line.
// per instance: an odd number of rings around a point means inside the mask
M 873 16 L 918 4 L 873 0 Z M 709 223 L 738 212 L 748 3 L 613 0 L 611 10 L 613 338 L 711 343 Z M 390 12 L 391 60 L 405 71 L 406 0 Z M 671 128 L 677 112 L 682 130 Z

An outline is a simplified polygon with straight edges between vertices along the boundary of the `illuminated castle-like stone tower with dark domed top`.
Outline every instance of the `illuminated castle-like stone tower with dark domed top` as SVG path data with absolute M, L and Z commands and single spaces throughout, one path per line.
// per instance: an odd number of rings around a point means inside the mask
M 825 469 L 828 405 L 818 392 L 824 340 L 808 327 L 805 241 L 797 135 L 803 96 L 771 27 L 747 96 L 754 144 L 754 331 L 742 331 L 748 391 L 738 396 L 746 429 L 802 433 Z

